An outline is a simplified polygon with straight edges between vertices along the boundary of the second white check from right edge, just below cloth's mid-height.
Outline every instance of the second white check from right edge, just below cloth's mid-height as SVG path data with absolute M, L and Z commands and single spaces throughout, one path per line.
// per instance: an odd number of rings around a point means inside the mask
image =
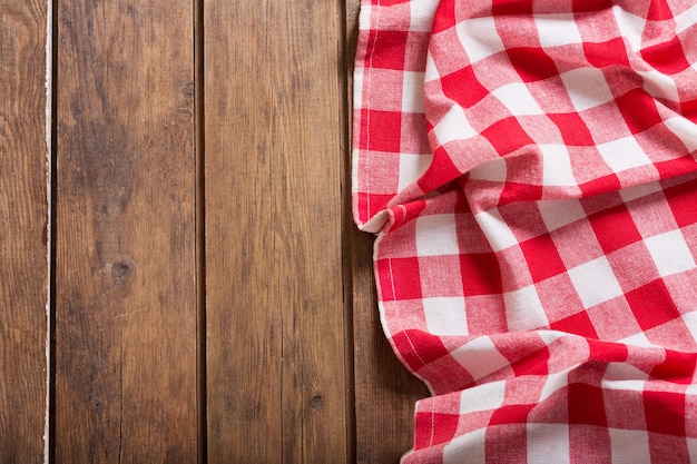
M 569 277 L 585 308 L 622 295 L 612 267 L 605 256 L 569 269 Z

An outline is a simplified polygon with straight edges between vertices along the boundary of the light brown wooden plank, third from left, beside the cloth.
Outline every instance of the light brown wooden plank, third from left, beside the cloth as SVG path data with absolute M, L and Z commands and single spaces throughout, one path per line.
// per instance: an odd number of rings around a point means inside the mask
M 210 463 L 351 458 L 343 14 L 316 0 L 205 10 Z

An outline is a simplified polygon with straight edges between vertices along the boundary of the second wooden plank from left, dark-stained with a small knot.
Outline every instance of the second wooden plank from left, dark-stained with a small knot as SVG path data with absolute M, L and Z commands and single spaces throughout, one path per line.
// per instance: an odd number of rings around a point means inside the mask
M 196 461 L 190 0 L 59 0 L 57 463 Z

